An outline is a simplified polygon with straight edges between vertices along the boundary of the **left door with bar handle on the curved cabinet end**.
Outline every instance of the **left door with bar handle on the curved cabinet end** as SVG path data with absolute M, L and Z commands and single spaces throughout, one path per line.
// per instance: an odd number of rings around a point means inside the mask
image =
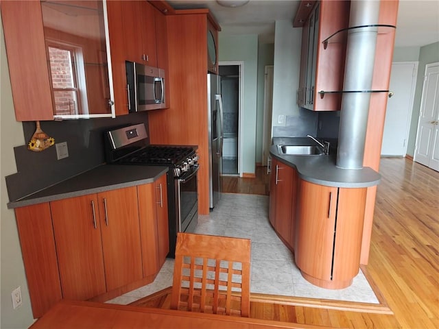
M 337 188 L 299 180 L 294 254 L 300 270 L 331 280 Z

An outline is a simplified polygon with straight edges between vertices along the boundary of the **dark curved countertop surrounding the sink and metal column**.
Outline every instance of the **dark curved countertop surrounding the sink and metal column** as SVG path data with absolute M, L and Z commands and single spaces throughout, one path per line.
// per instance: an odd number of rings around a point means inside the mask
M 307 137 L 276 137 L 270 147 L 273 158 L 293 167 L 302 180 L 324 186 L 358 188 L 379 184 L 381 175 L 377 171 L 363 167 L 362 169 L 341 169 L 335 166 L 335 149 L 329 155 L 294 156 L 280 154 L 277 145 L 316 145 Z M 331 154 L 332 153 L 332 154 Z

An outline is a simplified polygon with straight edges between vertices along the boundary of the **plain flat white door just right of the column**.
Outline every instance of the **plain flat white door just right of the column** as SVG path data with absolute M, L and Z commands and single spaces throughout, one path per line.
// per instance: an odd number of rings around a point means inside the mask
M 394 62 L 390 74 L 388 99 L 385 111 L 381 156 L 405 156 L 410 128 L 418 62 Z

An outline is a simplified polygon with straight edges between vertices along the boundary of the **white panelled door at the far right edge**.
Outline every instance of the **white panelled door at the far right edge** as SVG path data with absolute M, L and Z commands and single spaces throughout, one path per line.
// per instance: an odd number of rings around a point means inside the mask
M 414 160 L 439 171 L 439 62 L 425 66 Z

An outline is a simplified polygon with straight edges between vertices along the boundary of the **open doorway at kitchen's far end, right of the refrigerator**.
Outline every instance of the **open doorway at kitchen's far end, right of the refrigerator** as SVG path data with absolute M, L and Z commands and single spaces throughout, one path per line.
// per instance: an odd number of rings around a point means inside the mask
M 223 103 L 222 174 L 240 173 L 240 109 L 241 62 L 220 62 L 221 95 Z

